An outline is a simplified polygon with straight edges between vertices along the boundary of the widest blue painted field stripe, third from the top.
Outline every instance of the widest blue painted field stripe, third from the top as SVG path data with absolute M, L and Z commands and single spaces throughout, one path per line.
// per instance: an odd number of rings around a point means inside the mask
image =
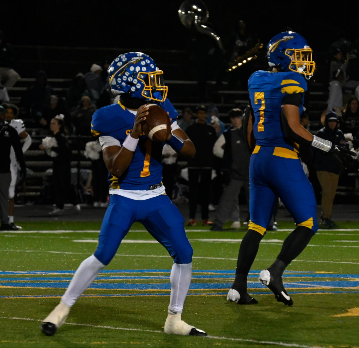
M 20 288 L 67 288 L 67 282 L 52 282 L 52 283 L 21 283 L 21 282 L 0 282 L 0 286 L 5 287 L 20 287 Z M 229 289 L 232 283 L 191 283 L 190 289 L 203 290 L 203 289 Z M 359 287 L 359 281 L 327 281 L 327 282 L 298 282 L 298 283 L 284 283 L 287 289 L 291 288 L 311 288 L 311 287 L 328 287 L 328 288 L 355 288 Z M 259 283 L 248 283 L 248 289 L 258 289 L 264 286 Z M 170 283 L 157 283 L 157 284 L 129 284 L 129 283 L 93 283 L 90 289 L 117 289 L 117 290 L 170 290 Z

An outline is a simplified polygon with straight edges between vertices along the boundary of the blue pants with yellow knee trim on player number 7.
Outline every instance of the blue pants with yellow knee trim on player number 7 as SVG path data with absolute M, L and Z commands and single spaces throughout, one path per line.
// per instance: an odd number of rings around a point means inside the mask
M 273 152 L 274 147 L 261 146 L 251 156 L 252 224 L 249 228 L 265 233 L 273 214 L 275 197 L 279 196 L 295 223 L 309 227 L 315 233 L 318 230 L 317 202 L 300 159 L 274 156 Z

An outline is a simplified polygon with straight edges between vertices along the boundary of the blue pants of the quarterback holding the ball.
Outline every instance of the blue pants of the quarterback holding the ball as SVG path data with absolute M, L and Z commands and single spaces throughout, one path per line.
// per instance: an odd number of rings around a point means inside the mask
M 193 249 L 183 227 L 184 219 L 167 195 L 134 200 L 111 195 L 95 257 L 108 265 L 134 222 L 141 222 L 177 264 L 192 262 Z

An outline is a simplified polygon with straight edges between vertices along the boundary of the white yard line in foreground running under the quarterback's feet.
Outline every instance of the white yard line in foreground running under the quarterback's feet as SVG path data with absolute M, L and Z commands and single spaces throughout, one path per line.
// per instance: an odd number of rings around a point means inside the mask
M 18 318 L 18 317 L 3 317 L 1 316 L 0 319 L 14 319 L 14 320 L 27 320 L 27 321 L 38 321 L 38 319 L 31 319 L 31 318 Z M 91 324 L 78 324 L 78 323 L 65 323 L 64 325 L 75 325 L 75 326 L 86 326 L 88 328 L 97 328 L 97 329 L 110 329 L 110 330 L 123 330 L 123 331 L 142 331 L 142 332 L 151 332 L 151 333 L 159 333 L 164 334 L 162 330 L 146 330 L 146 329 L 133 329 L 133 328 L 118 328 L 116 326 L 104 326 L 104 325 L 91 325 Z M 179 339 L 179 338 L 178 338 Z M 325 348 L 320 347 L 318 345 L 306 345 L 306 344 L 297 344 L 297 343 L 284 343 L 284 342 L 273 342 L 273 341 L 260 341 L 254 339 L 245 339 L 245 338 L 231 338 L 231 337 L 219 337 L 219 336 L 207 336 L 204 339 L 217 339 L 217 340 L 230 340 L 235 342 L 251 342 L 257 344 L 270 344 L 276 345 L 281 347 L 297 347 L 297 348 Z

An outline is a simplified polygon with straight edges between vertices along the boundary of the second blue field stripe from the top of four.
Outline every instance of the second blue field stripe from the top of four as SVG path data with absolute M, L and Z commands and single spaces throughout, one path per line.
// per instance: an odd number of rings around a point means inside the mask
M 250 274 L 248 275 L 248 278 L 254 278 L 257 279 L 258 275 L 255 274 Z M 300 274 L 300 275 L 296 275 L 296 274 L 284 274 L 283 278 L 343 278 L 343 279 L 359 279 L 359 274 Z M 143 279 L 148 279 L 148 280 L 168 280 L 170 277 L 169 275 L 163 275 L 163 276 L 158 276 L 158 275 L 148 275 L 148 276 L 120 276 L 120 275 L 115 275 L 112 277 L 97 277 L 96 280 L 143 280 Z M 12 277 L 12 278 L 1 278 L 0 277 L 0 281 L 1 282 L 21 282 L 21 281 L 37 281 L 37 282 L 45 282 L 45 281 L 62 281 L 62 282 L 66 282 L 66 281 L 70 281 L 72 279 L 72 277 L 22 277 L 22 278 L 17 278 L 17 277 Z M 230 274 L 223 274 L 223 275 L 192 275 L 192 279 L 234 279 L 234 274 L 230 275 Z

